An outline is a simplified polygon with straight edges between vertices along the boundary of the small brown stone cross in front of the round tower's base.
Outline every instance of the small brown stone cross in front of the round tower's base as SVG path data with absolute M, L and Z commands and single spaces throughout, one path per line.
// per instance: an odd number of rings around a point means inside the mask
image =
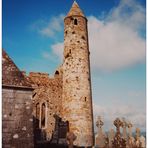
M 76 140 L 76 135 L 73 132 L 67 133 L 68 148 L 73 148 L 73 142 Z

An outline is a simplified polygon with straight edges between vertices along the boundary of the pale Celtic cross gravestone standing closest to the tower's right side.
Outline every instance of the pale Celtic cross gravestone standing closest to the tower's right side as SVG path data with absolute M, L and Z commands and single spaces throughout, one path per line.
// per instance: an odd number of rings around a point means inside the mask
M 103 133 L 102 126 L 104 125 L 100 116 L 98 116 L 96 126 L 98 127 L 98 133 L 95 139 L 95 147 L 104 148 L 107 144 L 107 137 Z

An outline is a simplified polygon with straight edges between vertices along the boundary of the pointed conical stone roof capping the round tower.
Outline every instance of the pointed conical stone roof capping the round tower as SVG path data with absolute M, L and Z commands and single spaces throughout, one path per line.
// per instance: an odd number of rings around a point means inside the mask
M 79 5 L 77 4 L 76 1 L 73 2 L 73 5 L 72 5 L 69 13 L 67 14 L 67 17 L 68 16 L 75 16 L 75 15 L 85 17 L 84 13 L 80 9 L 80 7 L 79 7 Z

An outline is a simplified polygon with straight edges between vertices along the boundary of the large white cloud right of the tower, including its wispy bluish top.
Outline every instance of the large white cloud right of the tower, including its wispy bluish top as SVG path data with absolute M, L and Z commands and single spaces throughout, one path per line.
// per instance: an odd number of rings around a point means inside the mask
M 145 61 L 145 11 L 133 0 L 121 0 L 104 20 L 88 17 L 91 65 L 112 71 Z

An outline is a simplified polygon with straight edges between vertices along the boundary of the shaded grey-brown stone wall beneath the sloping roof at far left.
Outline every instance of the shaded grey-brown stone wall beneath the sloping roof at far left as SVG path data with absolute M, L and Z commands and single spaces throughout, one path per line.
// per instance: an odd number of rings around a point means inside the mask
M 32 90 L 2 89 L 4 148 L 33 148 Z

